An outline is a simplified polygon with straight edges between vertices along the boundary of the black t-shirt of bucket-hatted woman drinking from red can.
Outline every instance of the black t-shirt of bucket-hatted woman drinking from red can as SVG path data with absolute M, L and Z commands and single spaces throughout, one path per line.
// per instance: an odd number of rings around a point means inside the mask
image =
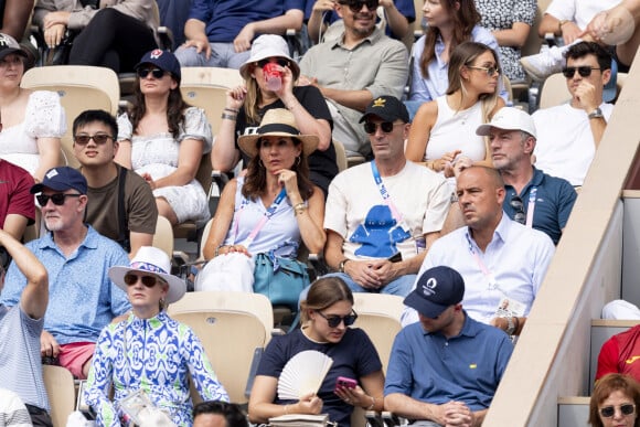
M 331 113 L 329 111 L 329 107 L 327 107 L 327 102 L 324 97 L 320 93 L 320 90 L 314 86 L 296 86 L 294 87 L 294 95 L 298 99 L 298 102 L 309 111 L 309 114 L 318 119 L 324 119 L 329 121 L 329 126 L 331 126 L 331 130 L 333 130 L 333 120 L 331 119 Z M 286 108 L 285 104 L 278 99 L 275 103 L 271 103 L 258 110 L 260 117 L 265 115 L 265 113 L 271 108 Z M 237 145 L 237 138 L 242 135 L 253 134 L 250 128 L 257 128 L 260 124 L 249 124 L 247 122 L 247 117 L 245 116 L 245 111 L 241 108 L 237 120 L 235 124 L 235 147 L 239 150 Z M 242 152 L 242 157 L 244 163 L 247 164 L 248 158 Z M 316 150 L 309 156 L 309 170 L 310 170 L 310 179 L 316 185 L 322 189 L 324 192 L 324 198 L 327 198 L 327 192 L 329 191 L 329 183 L 338 174 L 338 164 L 335 163 L 335 149 L 333 148 L 333 143 L 329 146 L 329 148 L 324 151 Z

